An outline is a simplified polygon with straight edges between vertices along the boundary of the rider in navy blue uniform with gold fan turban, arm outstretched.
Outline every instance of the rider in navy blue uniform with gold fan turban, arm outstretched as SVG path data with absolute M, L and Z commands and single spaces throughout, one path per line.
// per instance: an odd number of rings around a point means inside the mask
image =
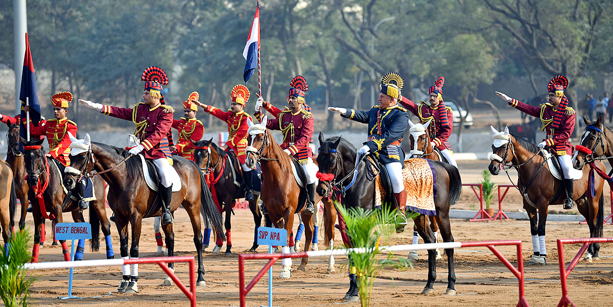
M 396 200 L 395 207 L 398 209 L 396 218 L 397 232 L 404 231 L 406 226 L 405 205 L 406 191 L 403 183 L 402 168 L 405 153 L 400 143 L 405 136 L 409 115 L 406 109 L 398 105 L 398 99 L 402 97 L 400 91 L 404 85 L 401 75 L 389 72 L 381 80 L 381 93 L 379 105 L 375 105 L 368 111 L 329 107 L 328 110 L 339 113 L 344 118 L 349 118 L 359 123 L 368 124 L 368 142 L 357 152 L 359 154 L 374 153 L 383 164 L 389 174 L 392 183 L 392 191 Z

